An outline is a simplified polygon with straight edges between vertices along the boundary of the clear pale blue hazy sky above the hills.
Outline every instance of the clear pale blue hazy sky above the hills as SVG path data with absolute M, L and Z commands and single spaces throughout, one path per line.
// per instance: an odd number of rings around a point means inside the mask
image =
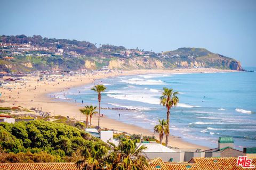
M 0 35 L 161 52 L 204 47 L 256 66 L 256 1 L 0 0 Z

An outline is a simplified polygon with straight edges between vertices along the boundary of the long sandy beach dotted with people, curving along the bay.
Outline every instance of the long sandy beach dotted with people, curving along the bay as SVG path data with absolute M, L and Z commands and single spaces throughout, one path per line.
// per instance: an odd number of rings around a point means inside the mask
M 132 70 L 132 71 L 112 71 L 112 72 L 94 72 L 76 74 L 76 75 L 51 75 L 54 81 L 43 80 L 37 81 L 38 77 L 28 76 L 25 81 L 20 83 L 9 84 L 11 90 L 1 88 L 1 106 L 22 106 L 24 108 L 42 108 L 44 112 L 50 112 L 51 116 L 62 115 L 76 118 L 77 120 L 85 120 L 85 117 L 79 113 L 79 108 L 82 105 L 76 103 L 62 102 L 60 100 L 50 97 L 49 94 L 53 92 L 65 91 L 69 88 L 83 86 L 84 84 L 93 83 L 96 79 L 117 77 L 120 75 L 136 75 L 136 74 L 154 74 L 154 73 L 213 73 L 213 72 L 235 72 L 231 70 L 217 70 L 217 69 L 176 69 L 176 70 Z M 15 87 L 15 88 L 14 88 Z M 96 94 L 95 94 L 96 95 Z M 97 124 L 98 117 L 94 116 L 92 124 Z M 125 131 L 127 133 L 143 132 L 143 135 L 155 135 L 152 131 L 142 129 L 138 126 L 125 124 L 111 119 L 111 117 L 101 117 L 100 124 L 103 128 L 115 129 Z M 170 136 L 170 146 L 178 148 L 202 148 L 206 147 L 193 145 L 183 141 L 180 137 Z

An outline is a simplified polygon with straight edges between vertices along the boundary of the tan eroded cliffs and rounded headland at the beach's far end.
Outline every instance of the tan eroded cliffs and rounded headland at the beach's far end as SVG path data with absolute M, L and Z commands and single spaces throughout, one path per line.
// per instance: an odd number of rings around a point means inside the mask
M 133 56 L 133 57 L 109 57 L 108 60 L 91 61 L 87 69 L 98 69 L 106 65 L 109 69 L 175 69 L 179 67 L 212 67 L 216 69 L 230 69 L 244 71 L 241 63 L 233 58 L 209 52 L 204 48 L 179 48 L 177 50 L 163 52 L 155 57 Z

